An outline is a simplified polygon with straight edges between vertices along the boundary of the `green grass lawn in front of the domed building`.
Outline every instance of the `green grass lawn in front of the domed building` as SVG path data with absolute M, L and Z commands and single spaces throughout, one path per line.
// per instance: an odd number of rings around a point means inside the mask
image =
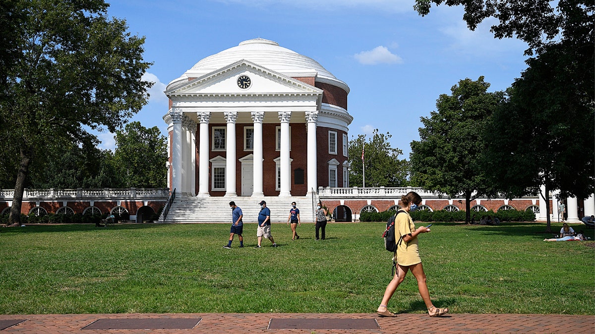
M 556 230 L 560 224 L 553 223 Z M 575 228 L 577 229 L 577 228 Z M 229 225 L 45 225 L 0 230 L 0 311 L 51 313 L 369 313 L 391 279 L 384 223 L 314 225 L 280 247 L 226 250 Z M 428 288 L 454 313 L 595 314 L 595 248 L 543 242 L 541 223 L 434 223 L 419 246 Z M 586 230 L 594 238 L 593 230 Z M 425 311 L 411 273 L 389 308 Z

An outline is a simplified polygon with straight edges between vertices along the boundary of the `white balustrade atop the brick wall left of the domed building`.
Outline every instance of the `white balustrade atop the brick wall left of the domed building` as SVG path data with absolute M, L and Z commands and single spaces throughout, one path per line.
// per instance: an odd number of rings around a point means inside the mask
M 159 199 L 167 200 L 169 188 L 124 188 L 124 189 L 25 189 L 23 200 L 58 200 L 64 198 L 102 200 L 102 199 Z M 14 189 L 0 189 L 0 200 L 11 201 Z

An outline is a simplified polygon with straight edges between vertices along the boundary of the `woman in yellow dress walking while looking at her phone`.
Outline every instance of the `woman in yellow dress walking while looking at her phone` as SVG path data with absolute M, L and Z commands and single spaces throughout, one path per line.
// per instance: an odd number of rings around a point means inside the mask
M 418 235 L 430 232 L 430 228 L 420 226 L 415 228 L 413 219 L 409 212 L 417 210 L 421 204 L 421 196 L 415 191 L 409 191 L 408 194 L 401 197 L 403 207 L 401 210 L 405 211 L 407 215 L 396 215 L 394 218 L 394 240 L 397 243 L 397 250 L 394 252 L 394 259 L 397 263 L 397 270 L 394 273 L 392 281 L 384 291 L 384 297 L 378 306 L 377 314 L 381 317 L 396 317 L 396 314 L 390 312 L 387 308 L 390 297 L 393 297 L 394 291 L 400 283 L 405 279 L 405 275 L 409 270 L 417 279 L 417 287 L 419 294 L 424 300 L 425 307 L 428 308 L 428 315 L 430 317 L 440 317 L 448 313 L 448 308 L 437 308 L 430 300 L 430 292 L 425 283 L 424 267 L 421 264 L 421 257 L 419 257 Z

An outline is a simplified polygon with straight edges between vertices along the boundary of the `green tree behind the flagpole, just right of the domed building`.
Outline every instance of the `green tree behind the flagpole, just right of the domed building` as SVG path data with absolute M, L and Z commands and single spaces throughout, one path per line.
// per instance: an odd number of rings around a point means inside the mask
M 399 159 L 403 151 L 390 146 L 389 133 L 378 133 L 376 129 L 368 141 L 366 137 L 360 134 L 349 141 L 349 184 L 355 187 L 364 185 L 365 164 L 366 187 L 404 187 L 407 183 L 408 162 Z

